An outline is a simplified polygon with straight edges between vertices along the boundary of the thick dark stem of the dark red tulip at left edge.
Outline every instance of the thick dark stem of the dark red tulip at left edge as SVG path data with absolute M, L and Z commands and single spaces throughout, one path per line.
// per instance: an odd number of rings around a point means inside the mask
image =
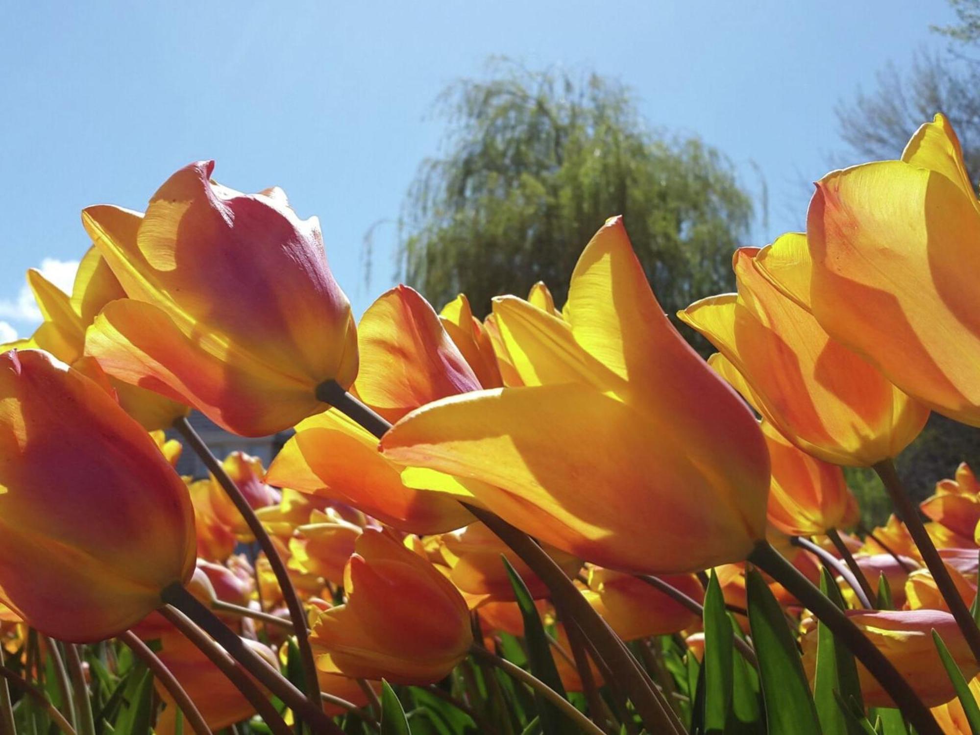
M 343 730 L 323 713 L 319 694 L 317 702 L 310 702 L 293 684 L 281 673 L 273 669 L 268 662 L 244 644 L 242 639 L 227 625 L 208 610 L 204 604 L 190 594 L 179 582 L 165 587 L 160 595 L 167 605 L 172 605 L 184 613 L 196 625 L 199 625 L 208 635 L 214 638 L 231 657 L 239 662 L 250 674 L 259 680 L 269 691 L 282 700 L 290 710 L 311 725 L 317 727 L 317 732 L 343 735 Z

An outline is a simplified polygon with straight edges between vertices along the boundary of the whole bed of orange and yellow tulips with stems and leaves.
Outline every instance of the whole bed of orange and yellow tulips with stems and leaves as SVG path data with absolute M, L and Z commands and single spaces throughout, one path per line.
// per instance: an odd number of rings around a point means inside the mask
M 679 315 L 707 362 L 618 218 L 562 309 L 403 285 L 355 324 L 319 222 L 213 168 L 86 209 L 71 294 L 28 273 L 0 735 L 980 733 L 980 482 L 916 505 L 893 465 L 931 411 L 980 426 L 980 202 L 945 118 L 735 253 L 738 292 Z M 295 433 L 219 460 L 192 409 Z

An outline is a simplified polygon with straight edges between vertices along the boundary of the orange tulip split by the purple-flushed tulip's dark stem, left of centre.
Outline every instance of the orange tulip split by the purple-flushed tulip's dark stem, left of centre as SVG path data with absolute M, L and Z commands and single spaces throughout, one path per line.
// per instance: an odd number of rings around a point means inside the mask
M 435 311 L 407 286 L 391 289 L 368 308 L 358 340 L 361 371 L 355 391 L 383 416 L 402 417 L 439 398 L 480 388 Z M 403 469 L 378 453 L 376 437 L 331 409 L 296 426 L 267 480 L 347 503 L 409 533 L 442 533 L 472 521 L 454 497 L 425 485 L 434 480 L 441 487 L 451 479 L 429 472 L 421 484 L 410 483 Z M 472 501 L 462 486 L 455 494 Z

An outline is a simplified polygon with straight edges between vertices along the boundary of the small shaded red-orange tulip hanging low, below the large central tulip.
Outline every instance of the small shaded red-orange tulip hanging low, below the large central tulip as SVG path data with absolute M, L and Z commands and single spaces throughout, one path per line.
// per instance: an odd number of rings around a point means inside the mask
M 432 564 L 368 529 L 345 576 L 346 604 L 321 613 L 313 626 L 321 671 L 430 684 L 466 658 L 466 602 Z

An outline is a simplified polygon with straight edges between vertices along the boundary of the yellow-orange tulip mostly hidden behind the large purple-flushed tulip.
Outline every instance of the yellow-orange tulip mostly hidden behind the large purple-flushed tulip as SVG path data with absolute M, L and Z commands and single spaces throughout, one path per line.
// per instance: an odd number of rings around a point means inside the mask
M 63 363 L 87 373 L 83 365 L 85 329 L 102 307 L 125 296 L 123 286 L 105 259 L 94 247 L 89 248 L 78 264 L 71 295 L 64 293 L 39 270 L 27 271 L 27 284 L 44 322 L 16 346 L 45 350 Z M 0 352 L 6 351 L 7 347 L 0 346 Z M 125 412 L 150 431 L 167 428 L 176 418 L 186 416 L 190 411 L 187 406 L 158 393 L 121 380 L 110 379 L 110 382 Z

